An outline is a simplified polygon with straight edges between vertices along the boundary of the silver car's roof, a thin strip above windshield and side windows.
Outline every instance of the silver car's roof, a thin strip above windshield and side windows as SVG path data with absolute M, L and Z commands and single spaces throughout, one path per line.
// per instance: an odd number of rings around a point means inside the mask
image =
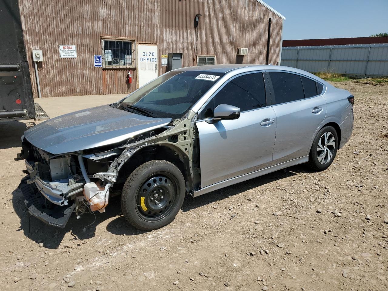
M 257 65 L 257 64 L 223 64 L 223 65 L 207 65 L 207 66 L 196 66 L 196 67 L 185 67 L 176 69 L 177 71 L 203 71 L 203 72 L 214 72 L 214 73 L 228 73 L 234 70 L 238 70 L 239 73 L 242 71 L 249 72 L 249 71 L 262 71 L 262 70 L 281 70 L 281 71 L 288 71 L 291 73 L 297 73 L 302 74 L 305 76 L 308 76 L 310 78 L 313 78 L 315 80 L 319 80 L 321 82 L 324 82 L 321 78 L 308 73 L 306 71 L 292 68 L 292 67 L 285 67 L 285 66 L 274 66 L 274 65 Z M 326 82 L 325 82 L 326 83 Z

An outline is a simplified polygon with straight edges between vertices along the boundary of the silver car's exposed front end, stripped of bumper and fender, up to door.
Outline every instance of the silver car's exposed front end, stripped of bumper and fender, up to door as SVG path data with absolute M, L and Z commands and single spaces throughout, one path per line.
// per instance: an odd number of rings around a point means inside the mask
M 194 113 L 189 111 L 181 119 L 129 139 L 63 154 L 51 154 L 23 138 L 23 149 L 16 160 L 25 160 L 29 174 L 20 187 L 29 213 L 63 228 L 73 212 L 77 217 L 92 211 L 104 212 L 109 197 L 121 194 L 123 179 L 128 177 L 131 164 L 135 165 L 128 160 L 138 151 L 146 158 L 159 145 L 171 149 L 184 165 L 190 192 L 199 170 L 192 163 L 196 148 L 193 120 Z

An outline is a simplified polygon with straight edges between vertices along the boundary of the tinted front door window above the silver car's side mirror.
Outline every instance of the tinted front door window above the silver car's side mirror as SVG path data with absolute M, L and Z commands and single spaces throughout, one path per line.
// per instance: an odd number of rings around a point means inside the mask
M 245 74 L 229 81 L 214 97 L 219 104 L 239 107 L 241 111 L 266 106 L 263 73 Z

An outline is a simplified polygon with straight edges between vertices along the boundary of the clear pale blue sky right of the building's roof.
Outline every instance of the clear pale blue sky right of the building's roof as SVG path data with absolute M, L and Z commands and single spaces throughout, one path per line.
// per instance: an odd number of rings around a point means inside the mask
M 286 17 L 283 40 L 388 32 L 388 0 L 264 0 Z

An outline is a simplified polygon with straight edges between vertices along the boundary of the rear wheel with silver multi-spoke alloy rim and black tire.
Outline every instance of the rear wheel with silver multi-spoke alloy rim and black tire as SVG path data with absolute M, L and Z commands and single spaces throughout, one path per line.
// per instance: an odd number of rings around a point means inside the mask
M 327 142 L 325 138 L 327 135 Z M 334 138 L 334 142 L 331 141 Z M 325 126 L 315 136 L 308 156 L 308 164 L 315 171 L 323 171 L 333 163 L 338 149 L 338 135 L 334 127 Z

